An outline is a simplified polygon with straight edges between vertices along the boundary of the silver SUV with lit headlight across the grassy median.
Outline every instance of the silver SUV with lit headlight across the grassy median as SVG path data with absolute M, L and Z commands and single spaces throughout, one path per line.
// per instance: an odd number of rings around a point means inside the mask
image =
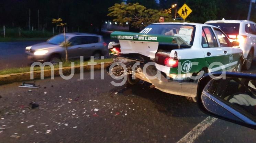
M 68 47 L 68 57 L 99 59 L 108 53 L 107 43 L 104 42 L 101 35 L 87 33 L 66 33 L 66 40 L 71 42 Z M 58 34 L 46 42 L 26 47 L 26 54 L 29 59 L 34 61 L 58 62 L 65 59 L 65 48 L 60 44 L 64 41 L 64 34 Z

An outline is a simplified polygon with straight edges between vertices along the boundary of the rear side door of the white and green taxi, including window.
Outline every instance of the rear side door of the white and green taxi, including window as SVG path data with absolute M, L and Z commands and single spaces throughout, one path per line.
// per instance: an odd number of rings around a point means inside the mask
M 201 46 L 203 48 L 205 60 L 211 65 L 213 62 L 221 62 L 221 56 L 224 54 L 222 48 L 216 40 L 216 36 L 211 27 L 202 27 L 202 41 Z M 218 65 L 208 69 L 209 72 L 220 70 Z

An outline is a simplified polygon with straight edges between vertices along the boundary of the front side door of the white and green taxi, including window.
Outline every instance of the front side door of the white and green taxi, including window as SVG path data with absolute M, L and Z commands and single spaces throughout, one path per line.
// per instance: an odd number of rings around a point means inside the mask
M 222 52 L 219 56 L 221 63 L 225 66 L 226 71 L 232 71 L 237 65 L 237 60 L 240 59 L 241 50 L 232 48 L 229 39 L 219 28 L 213 28 L 213 30 L 218 38 L 220 51 Z

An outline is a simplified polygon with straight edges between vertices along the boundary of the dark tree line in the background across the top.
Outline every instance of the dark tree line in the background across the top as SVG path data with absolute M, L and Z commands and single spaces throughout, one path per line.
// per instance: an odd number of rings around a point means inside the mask
M 62 18 L 68 31 L 90 31 L 101 29 L 101 25 L 111 19 L 108 8 L 123 0 L 0 0 L 0 26 L 29 28 L 29 9 L 31 27 L 38 29 L 37 11 L 39 10 L 40 29 L 51 30 L 52 18 Z M 127 3 L 139 2 L 146 8 L 168 9 L 177 3 L 178 9 L 184 3 L 193 10 L 187 20 L 204 23 L 216 19 L 246 19 L 250 0 L 126 0 Z M 174 16 L 175 9 L 171 15 Z M 251 20 L 256 21 L 255 3 L 252 6 Z

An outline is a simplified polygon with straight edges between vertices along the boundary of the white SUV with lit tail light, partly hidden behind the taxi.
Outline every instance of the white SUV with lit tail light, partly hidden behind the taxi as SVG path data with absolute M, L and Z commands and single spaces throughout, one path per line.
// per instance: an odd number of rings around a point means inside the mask
M 243 69 L 249 70 L 256 57 L 256 25 L 248 20 L 211 20 L 205 24 L 219 27 L 230 38 L 237 40 L 246 58 Z

